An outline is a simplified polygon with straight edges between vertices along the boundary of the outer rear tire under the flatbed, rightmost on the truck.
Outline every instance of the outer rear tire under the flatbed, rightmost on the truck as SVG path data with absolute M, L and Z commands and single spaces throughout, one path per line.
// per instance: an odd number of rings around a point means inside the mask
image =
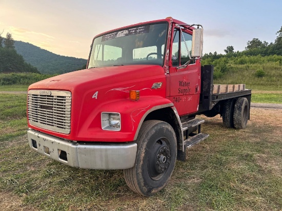
M 234 106 L 234 127 L 245 129 L 249 119 L 249 102 L 246 97 L 239 97 Z

